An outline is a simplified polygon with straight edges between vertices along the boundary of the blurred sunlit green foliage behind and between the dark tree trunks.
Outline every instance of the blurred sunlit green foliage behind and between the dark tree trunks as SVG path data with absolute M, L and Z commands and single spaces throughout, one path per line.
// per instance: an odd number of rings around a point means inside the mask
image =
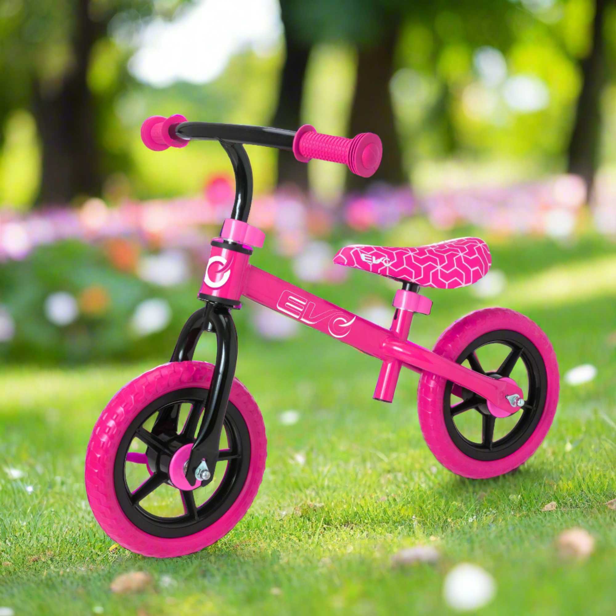
M 75 15 L 81 3 L 2 3 L 0 204 L 28 206 L 38 195 L 43 150 L 32 111 L 33 92 L 52 90 L 71 70 Z M 144 198 L 198 192 L 209 174 L 229 171 L 224 153 L 214 146 L 187 148 L 173 155 L 153 156 L 145 151 L 138 130 L 145 116 L 182 111 L 204 120 L 267 124 L 274 111 L 284 62 L 282 46 L 267 53 L 239 51 L 221 76 L 205 84 L 156 88 L 131 75 L 128 63 L 137 34 L 152 15 L 172 18 L 180 4 L 146 0 L 87 3 L 92 24 L 102 28 L 86 59 L 87 87 L 95 102 L 102 191 L 111 201 L 127 195 Z M 391 91 L 405 164 L 415 184 L 426 184 L 423 161 L 444 158 L 463 166 L 502 160 L 514 175 L 522 168 L 525 176 L 563 168 L 584 79 L 580 60 L 593 44 L 593 0 L 412 4 L 400 0 L 286 0 L 285 4 L 290 6 L 294 24 L 286 35 L 312 46 L 309 75 L 317 84 L 309 87 L 307 81 L 304 90 L 302 115 L 306 120 L 345 131 L 349 100 L 344 102 L 348 97 L 336 86 L 346 84 L 352 89 L 354 80 L 348 76 L 354 70 L 355 46 L 378 44 L 386 23 L 395 20 L 399 34 Z M 616 12 L 607 4 L 602 28 L 610 78 L 609 67 L 616 55 Z M 478 54 L 482 50 L 495 52 L 496 59 L 504 63 L 500 82 L 488 83 L 481 74 Z M 321 62 L 323 58 L 328 61 Z M 534 79 L 540 91 L 545 88 L 545 104 L 520 110 L 508 103 L 508 80 L 518 76 Z M 606 126 L 601 142 L 604 163 L 615 155 L 610 147 L 611 118 L 616 115 L 611 92 L 607 88 L 601 97 Z M 323 100 L 331 103 L 323 104 Z M 276 181 L 276 153 L 255 149 L 251 157 L 257 192 L 269 190 Z M 322 195 L 331 194 L 341 182 L 339 169 L 319 165 L 311 170 L 311 179 Z

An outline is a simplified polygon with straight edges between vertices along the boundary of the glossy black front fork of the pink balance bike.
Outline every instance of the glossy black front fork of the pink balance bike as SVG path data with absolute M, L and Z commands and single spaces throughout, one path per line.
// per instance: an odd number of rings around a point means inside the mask
M 188 318 L 177 339 L 171 361 L 192 360 L 204 331 L 216 334 L 216 364 L 208 395 L 198 410 L 198 415 L 203 413 L 203 421 L 186 469 L 186 479 L 191 485 L 197 479 L 201 480 L 201 485 L 209 484 L 214 479 L 222 425 L 237 364 L 237 331 L 233 317 L 228 306 L 215 302 L 208 302 Z

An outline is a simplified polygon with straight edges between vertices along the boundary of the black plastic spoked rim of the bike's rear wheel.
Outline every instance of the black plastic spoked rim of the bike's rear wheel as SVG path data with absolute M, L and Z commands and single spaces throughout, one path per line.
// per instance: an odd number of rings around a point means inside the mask
M 477 349 L 488 344 L 509 347 L 508 354 L 493 371 L 485 370 L 476 354 Z M 475 460 L 500 460 L 519 450 L 537 428 L 545 407 L 548 388 L 545 363 L 537 347 L 526 336 L 510 330 L 490 331 L 476 338 L 456 359 L 456 363 L 461 364 L 464 361 L 468 361 L 472 370 L 496 379 L 511 375 L 518 362 L 522 362 L 526 370 L 528 391 L 525 392 L 524 407 L 514 415 L 518 419 L 513 428 L 505 436 L 496 440 L 494 439 L 495 427 L 498 426 L 498 421 L 503 420 L 490 414 L 485 398 L 461 388 L 462 399 L 460 399 L 452 395 L 452 381 L 447 381 L 445 384 L 445 425 L 453 443 L 461 452 Z M 477 414 L 477 421 L 481 422 L 481 442 L 464 436 L 456 426 L 454 417 L 460 413 Z

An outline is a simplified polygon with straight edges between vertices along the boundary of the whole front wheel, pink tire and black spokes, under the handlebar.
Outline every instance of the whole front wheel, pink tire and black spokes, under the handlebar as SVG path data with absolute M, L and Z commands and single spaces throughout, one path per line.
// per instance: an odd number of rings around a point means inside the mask
M 197 552 L 224 537 L 253 503 L 267 441 L 261 411 L 237 379 L 214 480 L 192 487 L 175 468 L 188 460 L 213 371 L 205 362 L 154 368 L 124 386 L 95 424 L 87 498 L 102 529 L 124 548 L 156 557 Z

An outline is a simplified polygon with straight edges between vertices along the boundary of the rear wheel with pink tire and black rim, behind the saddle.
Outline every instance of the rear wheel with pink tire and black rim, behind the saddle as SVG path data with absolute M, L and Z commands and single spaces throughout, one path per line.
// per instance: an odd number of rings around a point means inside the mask
M 545 333 L 514 310 L 488 308 L 453 323 L 434 352 L 492 378 L 513 379 L 525 400 L 514 415 L 498 418 L 477 394 L 423 373 L 419 425 L 437 460 L 471 479 L 496 477 L 527 461 L 548 433 L 558 402 L 558 364 Z

